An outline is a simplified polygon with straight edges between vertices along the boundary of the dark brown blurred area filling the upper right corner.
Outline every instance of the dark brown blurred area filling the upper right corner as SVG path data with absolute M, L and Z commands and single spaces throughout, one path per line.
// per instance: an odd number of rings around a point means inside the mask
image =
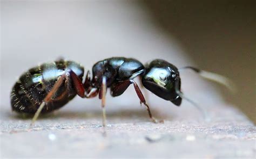
M 238 93 L 222 90 L 256 122 L 256 1 L 144 1 L 156 24 L 176 38 L 199 68 L 231 78 Z

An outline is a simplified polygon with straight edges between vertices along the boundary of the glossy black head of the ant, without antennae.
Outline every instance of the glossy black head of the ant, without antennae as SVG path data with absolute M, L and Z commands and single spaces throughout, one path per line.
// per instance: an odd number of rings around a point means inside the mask
M 147 66 L 142 77 L 142 84 L 146 89 L 165 100 L 170 100 L 179 106 L 181 98 L 176 93 L 176 82 L 180 90 L 180 77 L 178 68 L 164 60 L 154 60 Z

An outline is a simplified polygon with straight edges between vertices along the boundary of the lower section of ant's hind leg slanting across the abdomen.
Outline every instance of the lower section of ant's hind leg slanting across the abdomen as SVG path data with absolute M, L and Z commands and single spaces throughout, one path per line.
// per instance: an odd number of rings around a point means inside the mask
M 64 79 L 66 77 L 66 74 L 63 74 L 62 76 L 60 76 L 57 80 L 57 82 L 55 83 L 55 85 L 53 86 L 53 88 L 51 89 L 51 91 L 48 93 L 48 95 L 44 98 L 43 102 L 39 105 L 39 108 L 37 109 L 35 115 L 32 118 L 30 127 L 34 125 L 36 119 L 38 118 L 39 114 L 41 113 L 41 111 L 43 110 L 44 106 L 46 105 L 46 103 L 51 102 L 51 98 L 53 95 L 55 95 L 55 92 L 59 89 L 59 86 L 62 85 Z

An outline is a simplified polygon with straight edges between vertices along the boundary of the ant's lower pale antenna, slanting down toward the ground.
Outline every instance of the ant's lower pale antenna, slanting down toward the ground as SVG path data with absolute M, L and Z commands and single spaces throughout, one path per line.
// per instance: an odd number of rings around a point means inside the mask
M 196 107 L 197 110 L 199 110 L 199 111 L 203 114 L 203 117 L 204 117 L 204 120 L 205 120 L 205 121 L 210 121 L 209 115 L 206 113 L 206 111 L 205 111 L 204 109 L 202 109 L 202 108 L 201 108 L 196 102 L 194 102 L 192 99 L 186 97 L 186 96 L 184 95 L 184 93 L 179 90 L 179 81 L 180 81 L 180 78 L 179 78 L 178 80 L 176 80 L 175 86 L 174 86 L 174 87 L 175 87 L 175 91 L 176 91 L 176 93 L 178 94 L 178 96 L 180 96 L 181 98 L 187 100 L 187 101 L 190 102 L 194 107 Z

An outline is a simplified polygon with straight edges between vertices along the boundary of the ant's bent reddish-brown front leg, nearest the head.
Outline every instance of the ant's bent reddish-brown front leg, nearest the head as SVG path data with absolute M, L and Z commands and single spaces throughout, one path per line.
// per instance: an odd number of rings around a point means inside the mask
M 113 97 L 116 97 L 116 96 L 120 96 L 122 95 L 122 93 L 128 88 L 128 86 L 130 84 L 133 83 L 133 86 L 134 86 L 134 89 L 137 93 L 137 96 L 139 97 L 139 100 L 140 100 L 140 104 L 144 104 L 147 108 L 147 112 L 149 113 L 149 117 L 150 119 L 154 122 L 154 123 L 157 123 L 157 120 L 154 119 L 154 117 L 152 117 L 152 114 L 151 114 L 151 111 L 150 111 L 150 107 L 149 105 L 146 103 L 146 100 L 143 96 L 143 93 L 142 91 L 140 91 L 139 89 L 139 86 L 137 85 L 137 83 L 135 81 L 133 81 L 133 79 L 128 79 L 126 81 L 122 81 L 122 82 L 118 82 L 116 84 L 113 84 L 111 86 L 111 95 Z

